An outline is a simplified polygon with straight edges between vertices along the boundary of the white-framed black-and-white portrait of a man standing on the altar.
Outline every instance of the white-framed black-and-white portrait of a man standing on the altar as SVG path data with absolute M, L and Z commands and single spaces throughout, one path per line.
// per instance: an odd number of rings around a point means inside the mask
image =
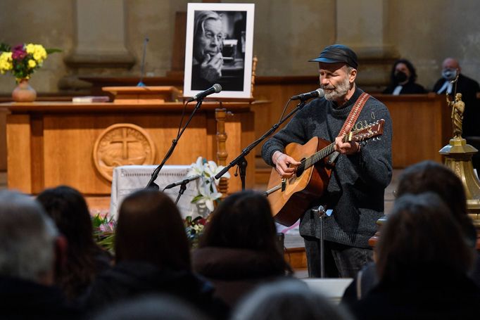
M 251 98 L 255 4 L 188 4 L 184 96 Z

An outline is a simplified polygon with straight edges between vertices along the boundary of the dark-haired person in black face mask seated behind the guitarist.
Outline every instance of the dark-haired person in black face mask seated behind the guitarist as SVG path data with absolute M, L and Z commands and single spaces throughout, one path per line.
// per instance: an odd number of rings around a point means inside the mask
M 420 84 L 415 83 L 417 72 L 407 59 L 396 60 L 390 74 L 390 84 L 384 94 L 426 94 L 427 91 Z

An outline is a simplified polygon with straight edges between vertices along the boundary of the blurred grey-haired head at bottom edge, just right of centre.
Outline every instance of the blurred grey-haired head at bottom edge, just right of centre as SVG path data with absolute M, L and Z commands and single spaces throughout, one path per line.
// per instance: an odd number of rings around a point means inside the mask
M 313 292 L 298 280 L 277 281 L 260 286 L 234 310 L 233 320 L 353 319 L 345 310 Z

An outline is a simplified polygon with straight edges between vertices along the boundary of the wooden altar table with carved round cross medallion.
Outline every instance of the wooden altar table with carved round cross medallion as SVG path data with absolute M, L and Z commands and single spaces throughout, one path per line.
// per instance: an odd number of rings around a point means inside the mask
M 185 113 L 185 123 L 195 103 Z M 85 196 L 108 196 L 118 165 L 158 165 L 177 136 L 183 105 L 165 103 L 0 103 L 7 115 L 8 188 L 36 194 L 67 184 Z M 227 163 L 255 139 L 248 102 L 205 101 L 166 165 L 190 165 L 198 156 L 217 162 L 215 110 L 226 108 Z M 255 179 L 248 155 L 246 186 Z M 229 192 L 241 181 L 230 169 Z

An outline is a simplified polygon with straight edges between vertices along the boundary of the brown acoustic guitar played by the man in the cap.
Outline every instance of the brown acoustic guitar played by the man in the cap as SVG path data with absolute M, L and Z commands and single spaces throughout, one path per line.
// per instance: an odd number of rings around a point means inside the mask
M 385 120 L 369 124 L 367 127 L 352 131 L 343 137 L 344 142 L 355 141 L 365 144 L 374 141 L 384 132 Z M 296 173 L 288 179 L 282 179 L 277 170 L 272 169 L 267 194 L 274 219 L 284 226 L 291 226 L 310 207 L 313 200 L 320 198 L 327 188 L 332 165 L 328 156 L 334 153 L 334 144 L 314 136 L 301 145 L 289 143 L 285 153 L 293 159 L 301 159 Z

